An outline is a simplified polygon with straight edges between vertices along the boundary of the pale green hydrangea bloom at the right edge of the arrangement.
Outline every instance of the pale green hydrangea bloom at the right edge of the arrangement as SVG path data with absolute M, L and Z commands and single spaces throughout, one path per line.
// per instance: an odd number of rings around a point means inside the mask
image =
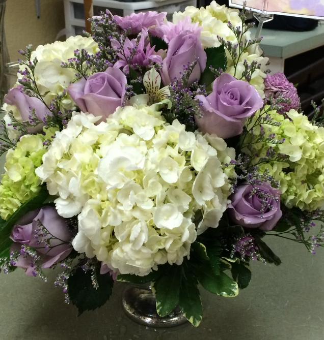
M 276 111 L 268 112 L 279 126 L 262 124 L 253 129 L 254 135 L 263 134 L 275 139 L 284 139 L 282 144 L 273 145 L 276 153 L 288 156 L 287 162 L 262 164 L 260 170 L 268 169 L 280 183 L 282 201 L 288 207 L 313 211 L 324 207 L 324 128 L 313 125 L 308 117 L 290 110 L 288 118 Z M 262 131 L 263 130 L 263 131 Z M 264 139 L 264 138 L 263 138 Z M 264 157 L 269 144 L 256 143 L 253 154 Z

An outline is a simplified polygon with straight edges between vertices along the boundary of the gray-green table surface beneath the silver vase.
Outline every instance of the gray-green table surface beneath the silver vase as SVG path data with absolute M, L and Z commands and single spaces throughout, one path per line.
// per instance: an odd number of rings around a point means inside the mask
M 281 257 L 279 267 L 252 264 L 250 286 L 236 298 L 202 290 L 204 318 L 199 328 L 145 328 L 130 321 L 121 307 L 125 284 L 117 283 L 110 301 L 77 317 L 48 283 L 22 270 L 0 274 L 0 339 L 100 340 L 322 340 L 324 339 L 324 249 L 311 255 L 303 245 L 268 236 Z

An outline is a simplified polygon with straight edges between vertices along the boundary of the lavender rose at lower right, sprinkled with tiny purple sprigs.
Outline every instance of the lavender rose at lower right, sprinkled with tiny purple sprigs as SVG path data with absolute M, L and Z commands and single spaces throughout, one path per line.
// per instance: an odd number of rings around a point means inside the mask
M 231 197 L 228 206 L 231 219 L 246 228 L 272 230 L 282 216 L 280 192 L 268 183 L 253 187 L 250 184 L 239 186 Z

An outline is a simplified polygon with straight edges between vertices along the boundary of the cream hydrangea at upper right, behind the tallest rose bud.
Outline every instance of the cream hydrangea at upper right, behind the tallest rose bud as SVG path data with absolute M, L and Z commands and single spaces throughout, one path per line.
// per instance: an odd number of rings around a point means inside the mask
M 210 6 L 206 8 L 196 8 L 193 6 L 186 7 L 184 12 L 176 12 L 173 15 L 173 22 L 177 23 L 182 21 L 186 17 L 190 17 L 192 22 L 198 22 L 201 27 L 201 41 L 204 48 L 207 47 L 219 47 L 218 36 L 230 41 L 233 44 L 237 44 L 237 38 L 235 37 L 232 30 L 228 27 L 228 22 L 234 27 L 242 28 L 241 19 L 238 16 L 238 10 L 227 8 L 225 5 L 218 5 L 215 1 L 210 3 Z M 251 33 L 248 31 L 244 35 L 244 39 L 251 40 Z M 240 79 L 242 72 L 245 70 L 244 61 L 247 60 L 251 64 L 253 60 L 256 60 L 258 64 L 261 64 L 261 69 L 256 70 L 252 74 L 250 84 L 253 85 L 259 94 L 264 97 L 264 84 L 263 79 L 265 78 L 265 70 L 267 69 L 266 64 L 268 58 L 262 56 L 262 50 L 259 46 L 255 47 L 252 45 L 248 52 L 239 55 L 237 60 L 237 67 L 234 68 L 233 60 L 227 53 L 227 69 L 226 72 L 235 75 L 236 78 Z

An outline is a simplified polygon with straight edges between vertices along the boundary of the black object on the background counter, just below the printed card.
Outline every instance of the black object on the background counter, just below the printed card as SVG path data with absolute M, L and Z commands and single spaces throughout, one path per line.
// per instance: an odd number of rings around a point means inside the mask
M 312 30 L 318 25 L 318 20 L 308 18 L 297 18 L 286 15 L 275 15 L 274 20 L 266 22 L 263 27 L 269 29 L 293 30 L 302 32 Z

